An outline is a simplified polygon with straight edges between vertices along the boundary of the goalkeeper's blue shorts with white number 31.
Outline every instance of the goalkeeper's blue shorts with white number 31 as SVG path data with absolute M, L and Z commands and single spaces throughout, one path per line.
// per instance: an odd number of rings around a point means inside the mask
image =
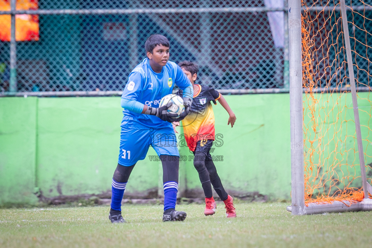
M 131 166 L 144 160 L 150 145 L 158 156 L 179 156 L 173 128 L 142 130 L 122 127 L 118 164 Z

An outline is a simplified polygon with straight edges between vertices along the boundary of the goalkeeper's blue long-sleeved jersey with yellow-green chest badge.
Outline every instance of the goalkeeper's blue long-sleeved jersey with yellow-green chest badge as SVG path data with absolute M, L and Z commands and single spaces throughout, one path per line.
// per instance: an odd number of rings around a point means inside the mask
M 153 115 L 141 114 L 141 111 L 143 104 L 159 107 L 161 98 L 172 93 L 174 84 L 183 90 L 183 97 L 191 99 L 193 97 L 192 84 L 176 63 L 168 61 L 161 73 L 155 73 L 148 60 L 145 58 L 129 74 L 121 98 L 135 100 L 136 107 L 133 110 L 123 109 L 122 127 L 132 129 L 171 127 L 171 123 Z

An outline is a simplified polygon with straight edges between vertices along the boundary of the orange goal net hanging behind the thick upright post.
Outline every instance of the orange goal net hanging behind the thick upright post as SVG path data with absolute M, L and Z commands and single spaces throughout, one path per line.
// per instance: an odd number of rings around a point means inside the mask
M 363 200 L 339 0 L 302 0 L 305 205 Z M 372 5 L 346 0 L 367 183 L 372 178 Z M 369 195 L 371 197 L 371 195 Z

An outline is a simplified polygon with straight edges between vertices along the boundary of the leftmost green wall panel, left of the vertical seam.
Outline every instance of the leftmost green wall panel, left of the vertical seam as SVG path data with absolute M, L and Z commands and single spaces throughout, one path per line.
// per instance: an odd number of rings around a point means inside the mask
M 36 97 L 0 98 L 0 203 L 35 203 Z

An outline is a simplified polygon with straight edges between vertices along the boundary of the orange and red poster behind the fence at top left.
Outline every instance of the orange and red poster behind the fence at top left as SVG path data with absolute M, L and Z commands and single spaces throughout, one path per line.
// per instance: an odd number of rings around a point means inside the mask
M 17 10 L 36 10 L 39 0 L 17 0 Z M 0 0 L 0 10 L 10 11 L 10 0 Z M 16 41 L 39 40 L 39 16 L 16 15 Z M 10 15 L 0 15 L 0 41 L 10 41 Z

